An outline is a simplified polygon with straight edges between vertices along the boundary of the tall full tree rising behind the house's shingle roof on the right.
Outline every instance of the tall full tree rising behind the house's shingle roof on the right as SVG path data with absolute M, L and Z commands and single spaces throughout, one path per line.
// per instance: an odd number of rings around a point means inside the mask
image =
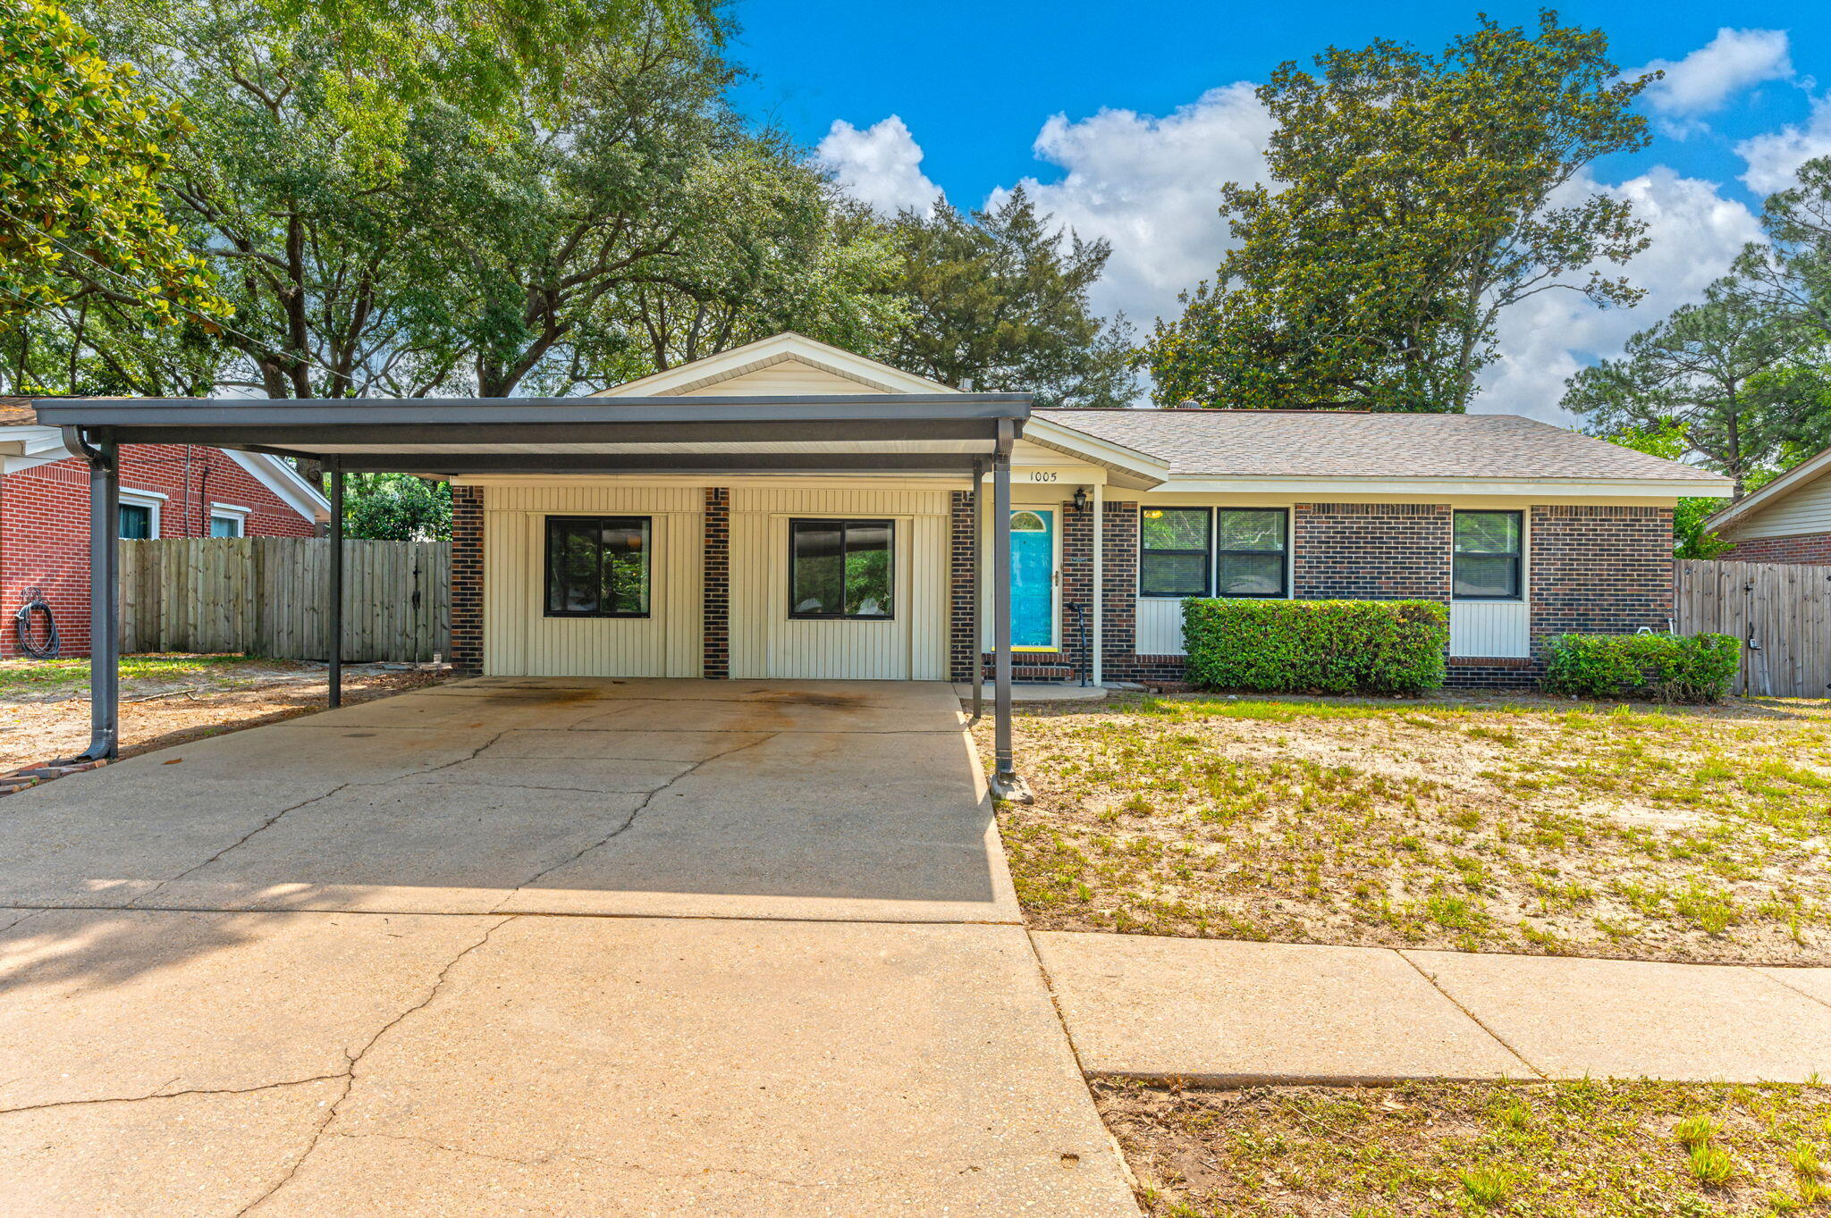
M 1595 269 L 1646 245 L 1584 168 L 1646 144 L 1600 31 L 1481 18 L 1439 55 L 1377 40 L 1258 90 L 1271 185 L 1223 187 L 1236 249 L 1146 346 L 1159 402 L 1465 410 L 1501 315 L 1641 293 Z

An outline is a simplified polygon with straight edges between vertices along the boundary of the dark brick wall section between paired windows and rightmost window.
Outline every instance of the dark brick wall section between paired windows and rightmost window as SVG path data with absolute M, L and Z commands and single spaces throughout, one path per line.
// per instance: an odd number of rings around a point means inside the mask
M 1298 503 L 1298 600 L 1450 598 L 1446 503 Z

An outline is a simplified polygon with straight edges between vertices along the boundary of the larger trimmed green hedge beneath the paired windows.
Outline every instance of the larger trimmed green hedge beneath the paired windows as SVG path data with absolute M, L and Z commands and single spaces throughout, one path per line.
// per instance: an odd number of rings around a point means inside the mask
M 1205 689 L 1415 695 L 1443 684 L 1434 600 L 1186 600 L 1188 677 Z

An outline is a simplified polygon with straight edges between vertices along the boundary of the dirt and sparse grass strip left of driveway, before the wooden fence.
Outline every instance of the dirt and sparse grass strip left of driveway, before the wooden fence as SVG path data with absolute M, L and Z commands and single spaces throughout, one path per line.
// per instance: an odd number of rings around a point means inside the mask
M 121 755 L 324 710 L 322 664 L 244 657 L 125 657 Z M 439 671 L 344 666 L 344 702 L 419 689 Z M 0 774 L 68 757 L 90 743 L 88 662 L 0 662 Z

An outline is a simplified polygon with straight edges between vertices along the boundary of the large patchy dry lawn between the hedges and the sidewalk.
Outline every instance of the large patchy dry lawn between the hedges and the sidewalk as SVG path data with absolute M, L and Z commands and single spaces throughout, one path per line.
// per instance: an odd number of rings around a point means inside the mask
M 1831 711 L 1132 697 L 1022 713 L 1035 925 L 1831 962 Z

